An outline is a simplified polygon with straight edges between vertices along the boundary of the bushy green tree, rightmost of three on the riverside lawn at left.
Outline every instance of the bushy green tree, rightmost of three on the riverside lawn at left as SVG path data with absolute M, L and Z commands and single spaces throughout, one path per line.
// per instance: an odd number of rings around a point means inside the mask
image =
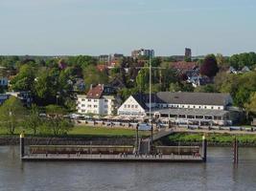
M 46 106 L 47 126 L 55 136 L 67 134 L 74 126 L 71 121 L 64 118 L 66 110 L 58 105 Z

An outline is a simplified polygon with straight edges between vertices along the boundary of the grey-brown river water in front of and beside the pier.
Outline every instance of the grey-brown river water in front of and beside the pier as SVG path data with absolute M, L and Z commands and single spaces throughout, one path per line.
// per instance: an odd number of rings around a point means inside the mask
M 17 146 L 0 146 L 0 191 L 256 190 L 256 148 L 208 150 L 207 163 L 21 162 Z

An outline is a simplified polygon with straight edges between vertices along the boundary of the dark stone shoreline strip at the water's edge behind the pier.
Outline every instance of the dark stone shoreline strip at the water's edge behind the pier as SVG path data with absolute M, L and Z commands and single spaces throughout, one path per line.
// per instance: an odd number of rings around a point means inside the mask
M 99 136 L 78 136 L 78 137 L 26 137 L 26 145 L 133 145 L 134 137 L 99 137 Z M 167 138 L 161 138 L 154 142 L 155 145 L 165 146 L 198 146 L 201 141 L 171 141 Z M 208 140 L 208 146 L 211 147 L 230 147 L 232 142 L 213 142 Z M 19 145 L 19 137 L 0 136 L 0 146 Z M 240 147 L 256 147 L 256 142 L 239 142 Z

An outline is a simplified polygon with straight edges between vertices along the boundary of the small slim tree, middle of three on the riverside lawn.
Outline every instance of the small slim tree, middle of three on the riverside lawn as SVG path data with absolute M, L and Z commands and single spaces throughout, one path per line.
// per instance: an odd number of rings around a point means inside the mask
M 35 104 L 33 104 L 29 111 L 29 116 L 26 117 L 25 128 L 32 130 L 35 136 L 42 123 L 42 118 L 39 117 L 39 109 Z

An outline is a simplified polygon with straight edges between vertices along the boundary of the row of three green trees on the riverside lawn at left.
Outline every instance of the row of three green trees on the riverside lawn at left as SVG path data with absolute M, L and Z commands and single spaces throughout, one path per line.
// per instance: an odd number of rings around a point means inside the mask
M 73 122 L 65 118 L 67 111 L 57 105 L 48 105 L 42 111 L 33 104 L 26 108 L 14 96 L 0 106 L 0 130 L 13 135 L 16 130 L 30 132 L 36 135 L 66 135 L 74 126 Z

